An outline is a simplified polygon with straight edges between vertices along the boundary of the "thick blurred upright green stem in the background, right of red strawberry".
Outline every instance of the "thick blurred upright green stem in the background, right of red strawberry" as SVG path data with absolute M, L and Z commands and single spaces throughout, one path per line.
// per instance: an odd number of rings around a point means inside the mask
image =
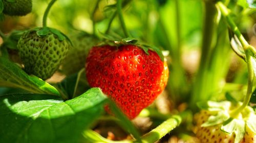
M 211 52 L 211 43 L 214 36 L 215 30 L 215 17 L 216 17 L 216 8 L 212 2 L 204 1 L 205 5 L 205 18 L 204 18 L 204 30 L 203 30 L 203 40 L 202 40 L 202 52 L 200 66 L 197 73 L 196 81 L 194 83 L 193 95 L 190 100 L 190 107 L 196 109 L 196 103 L 198 101 L 207 101 L 210 98 L 209 92 L 209 83 L 207 82 L 208 76 L 208 62 Z M 212 75 L 214 76 L 214 75 Z

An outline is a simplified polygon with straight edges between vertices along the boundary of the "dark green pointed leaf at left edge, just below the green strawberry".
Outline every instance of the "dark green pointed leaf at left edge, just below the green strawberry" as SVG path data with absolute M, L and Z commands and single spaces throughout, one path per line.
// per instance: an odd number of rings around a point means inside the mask
M 33 93 L 59 95 L 49 83 L 36 76 L 29 76 L 16 64 L 0 56 L 0 86 L 21 88 Z

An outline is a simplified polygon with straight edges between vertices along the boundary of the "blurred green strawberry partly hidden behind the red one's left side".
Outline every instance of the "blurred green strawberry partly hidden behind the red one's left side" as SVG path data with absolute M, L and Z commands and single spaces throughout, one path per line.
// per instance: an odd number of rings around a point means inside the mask
M 70 37 L 73 48 L 69 50 L 61 68 L 61 72 L 66 75 L 76 73 L 84 68 L 89 50 L 99 42 L 97 37 L 86 33 L 79 33 Z

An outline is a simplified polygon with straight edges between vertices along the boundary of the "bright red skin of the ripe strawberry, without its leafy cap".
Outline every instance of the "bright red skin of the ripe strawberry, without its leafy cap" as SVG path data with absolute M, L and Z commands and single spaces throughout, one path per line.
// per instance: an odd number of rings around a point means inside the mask
M 148 53 L 136 45 L 93 47 L 86 61 L 90 86 L 111 97 L 129 119 L 156 99 L 168 79 L 166 62 Z

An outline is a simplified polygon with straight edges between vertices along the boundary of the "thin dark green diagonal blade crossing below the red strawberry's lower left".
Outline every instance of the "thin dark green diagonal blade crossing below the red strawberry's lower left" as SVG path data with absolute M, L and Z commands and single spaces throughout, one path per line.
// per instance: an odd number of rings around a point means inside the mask
M 141 142 L 140 134 L 134 127 L 132 122 L 124 115 L 124 113 L 116 106 L 116 104 L 112 100 L 109 100 L 109 105 L 111 111 L 120 120 L 119 124 L 123 127 L 123 129 L 131 133 L 136 140 Z

